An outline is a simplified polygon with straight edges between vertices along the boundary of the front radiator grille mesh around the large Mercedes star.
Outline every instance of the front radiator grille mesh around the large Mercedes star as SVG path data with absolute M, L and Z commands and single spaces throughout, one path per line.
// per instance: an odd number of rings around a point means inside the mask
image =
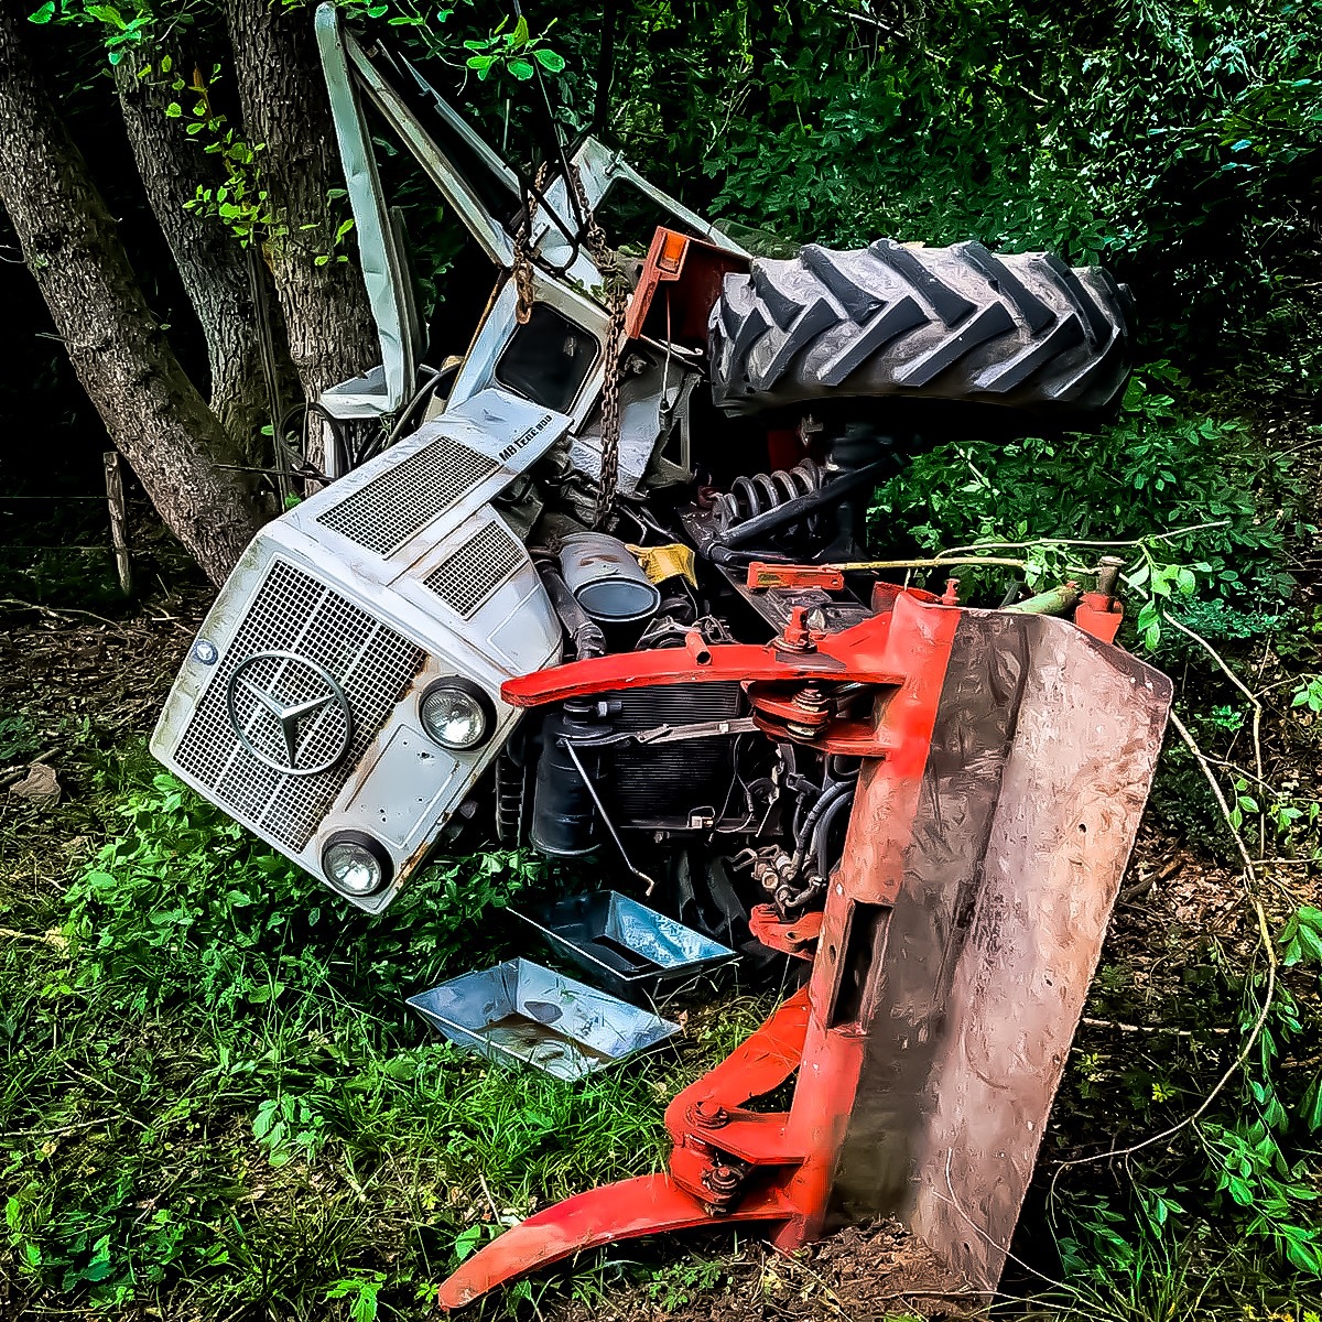
M 338 765 L 315 776 L 295 776 L 264 765 L 238 742 L 226 690 L 234 670 L 256 652 L 305 657 L 344 689 L 353 711 L 353 739 Z M 420 648 L 327 584 L 276 561 L 193 711 L 175 750 L 175 761 L 233 816 L 299 853 L 422 662 Z M 303 697 L 300 685 L 309 682 L 311 672 L 262 661 L 245 676 L 275 691 L 282 702 L 292 703 Z M 243 677 L 239 685 L 242 681 Z M 319 750 L 338 746 L 338 719 L 342 714 L 332 705 L 309 720 L 301 735 L 304 764 L 316 765 Z M 245 728 L 262 752 L 283 759 L 274 723 L 254 720 Z

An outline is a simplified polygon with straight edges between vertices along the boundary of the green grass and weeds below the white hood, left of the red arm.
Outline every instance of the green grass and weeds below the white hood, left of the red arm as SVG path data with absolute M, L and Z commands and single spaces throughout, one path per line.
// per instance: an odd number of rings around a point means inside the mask
M 666 1101 L 763 1013 L 579 1084 L 488 1066 L 403 998 L 512 953 L 543 865 L 447 861 L 370 920 L 140 758 L 111 771 L 108 842 L 0 910 L 0 1276 L 29 1303 L 430 1315 L 501 1219 L 660 1169 Z

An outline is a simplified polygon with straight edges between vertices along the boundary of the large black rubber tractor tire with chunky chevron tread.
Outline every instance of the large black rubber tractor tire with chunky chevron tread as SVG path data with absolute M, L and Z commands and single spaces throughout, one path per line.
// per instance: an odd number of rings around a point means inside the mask
M 1071 270 L 1047 253 L 809 245 L 724 278 L 711 391 L 727 412 L 825 395 L 1104 411 L 1129 375 L 1132 311 L 1101 267 Z

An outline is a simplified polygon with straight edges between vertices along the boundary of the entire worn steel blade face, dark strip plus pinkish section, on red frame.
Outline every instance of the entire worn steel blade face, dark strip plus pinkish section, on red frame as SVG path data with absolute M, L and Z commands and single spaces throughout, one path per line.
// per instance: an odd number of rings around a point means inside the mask
M 962 612 L 911 832 L 883 837 L 910 834 L 904 880 L 834 1207 L 899 1215 L 980 1289 L 1005 1263 L 1170 693 L 1064 621 Z

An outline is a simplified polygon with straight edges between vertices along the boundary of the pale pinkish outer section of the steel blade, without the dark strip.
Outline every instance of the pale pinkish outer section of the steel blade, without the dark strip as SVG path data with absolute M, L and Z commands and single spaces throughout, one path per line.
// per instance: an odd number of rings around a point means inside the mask
M 1019 719 L 949 977 L 906 1210 L 985 1289 L 1005 1265 L 1171 701 L 1166 676 L 1060 621 L 1025 632 Z

